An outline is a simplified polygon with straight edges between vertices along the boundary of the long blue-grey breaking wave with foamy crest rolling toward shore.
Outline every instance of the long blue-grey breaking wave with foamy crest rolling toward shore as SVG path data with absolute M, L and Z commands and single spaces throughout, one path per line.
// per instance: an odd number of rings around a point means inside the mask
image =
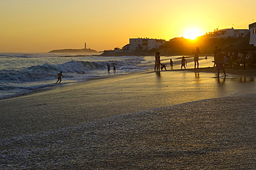
M 127 61 L 104 61 L 104 62 L 84 62 L 71 61 L 63 64 L 44 63 L 38 66 L 30 66 L 22 70 L 0 70 L 1 82 L 33 82 L 43 79 L 55 79 L 57 73 L 62 71 L 66 76 L 73 77 L 75 74 L 91 73 L 98 70 L 107 70 L 107 64 L 116 67 L 123 72 L 138 69 L 136 64 L 143 59 L 128 59 Z

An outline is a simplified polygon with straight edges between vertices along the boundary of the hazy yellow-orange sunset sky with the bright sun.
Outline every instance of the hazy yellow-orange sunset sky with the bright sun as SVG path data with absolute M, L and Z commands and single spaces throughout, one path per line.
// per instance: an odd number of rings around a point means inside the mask
M 0 53 L 113 50 L 130 38 L 169 41 L 248 29 L 256 0 L 0 0 Z

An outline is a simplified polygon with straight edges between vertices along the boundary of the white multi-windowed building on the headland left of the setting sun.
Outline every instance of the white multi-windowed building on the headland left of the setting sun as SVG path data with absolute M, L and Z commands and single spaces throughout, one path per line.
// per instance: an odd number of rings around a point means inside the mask
M 165 44 L 165 39 L 129 39 L 129 50 L 151 50 Z

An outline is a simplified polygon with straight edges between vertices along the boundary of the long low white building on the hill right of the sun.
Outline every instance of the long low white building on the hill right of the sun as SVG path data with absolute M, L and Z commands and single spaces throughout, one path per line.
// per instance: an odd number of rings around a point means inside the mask
M 214 30 L 214 32 L 210 32 L 210 38 L 237 38 L 237 37 L 246 37 L 248 35 L 249 30 L 247 29 L 223 29 L 223 30 Z

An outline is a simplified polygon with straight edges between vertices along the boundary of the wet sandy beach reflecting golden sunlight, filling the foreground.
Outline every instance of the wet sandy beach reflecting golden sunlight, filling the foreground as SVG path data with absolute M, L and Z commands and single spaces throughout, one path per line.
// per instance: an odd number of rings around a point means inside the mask
M 255 169 L 255 68 L 152 70 L 1 100 L 0 169 Z

